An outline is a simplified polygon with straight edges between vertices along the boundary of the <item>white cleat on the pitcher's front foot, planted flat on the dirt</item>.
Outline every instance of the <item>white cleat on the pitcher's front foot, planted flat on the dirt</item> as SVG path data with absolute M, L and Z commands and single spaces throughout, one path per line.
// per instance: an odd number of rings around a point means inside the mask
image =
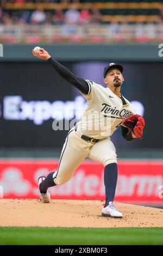
M 114 206 L 115 204 L 116 204 L 115 202 L 110 201 L 107 206 L 103 205 L 102 216 L 114 217 L 114 218 L 122 218 L 122 212 L 117 211 L 117 209 Z

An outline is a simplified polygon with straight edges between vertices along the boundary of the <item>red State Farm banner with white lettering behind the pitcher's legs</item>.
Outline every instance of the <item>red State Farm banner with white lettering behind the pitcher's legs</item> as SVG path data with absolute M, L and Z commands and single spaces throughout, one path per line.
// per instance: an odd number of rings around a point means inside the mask
M 0 160 L 1 198 L 39 198 L 37 179 L 55 172 L 58 161 Z M 50 188 L 52 199 L 104 200 L 104 167 L 84 162 L 66 184 Z M 117 202 L 163 205 L 163 161 L 119 161 Z

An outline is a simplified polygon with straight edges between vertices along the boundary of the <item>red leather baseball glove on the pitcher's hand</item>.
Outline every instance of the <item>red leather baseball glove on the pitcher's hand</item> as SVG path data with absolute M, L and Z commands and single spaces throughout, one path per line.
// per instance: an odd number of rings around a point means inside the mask
M 141 115 L 135 114 L 130 117 L 125 118 L 122 123 L 122 126 L 127 127 L 137 138 L 142 139 L 143 128 L 145 127 L 145 119 Z

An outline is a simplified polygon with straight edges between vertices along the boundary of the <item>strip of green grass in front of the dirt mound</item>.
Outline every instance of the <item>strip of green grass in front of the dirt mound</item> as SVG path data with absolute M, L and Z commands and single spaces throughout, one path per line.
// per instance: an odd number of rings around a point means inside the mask
M 0 245 L 163 245 L 163 228 L 0 227 Z

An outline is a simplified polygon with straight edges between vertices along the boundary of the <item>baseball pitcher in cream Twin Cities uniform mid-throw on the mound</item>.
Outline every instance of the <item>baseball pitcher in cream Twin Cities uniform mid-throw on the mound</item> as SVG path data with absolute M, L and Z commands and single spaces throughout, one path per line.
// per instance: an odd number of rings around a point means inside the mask
M 41 176 L 38 180 L 41 200 L 48 203 L 48 187 L 62 185 L 70 180 L 85 157 L 89 157 L 104 166 L 105 204 L 102 207 L 102 215 L 122 218 L 122 213 L 115 208 L 114 202 L 118 175 L 117 155 L 110 136 L 121 126 L 122 136 L 127 141 L 142 138 L 145 126 L 145 120 L 133 113 L 130 102 L 120 93 L 124 81 L 122 65 L 110 63 L 104 68 L 104 88 L 72 74 L 43 48 L 37 52 L 33 50 L 33 55 L 47 60 L 55 71 L 76 87 L 87 100 L 83 117 L 68 132 L 57 172 L 51 172 L 47 177 Z

